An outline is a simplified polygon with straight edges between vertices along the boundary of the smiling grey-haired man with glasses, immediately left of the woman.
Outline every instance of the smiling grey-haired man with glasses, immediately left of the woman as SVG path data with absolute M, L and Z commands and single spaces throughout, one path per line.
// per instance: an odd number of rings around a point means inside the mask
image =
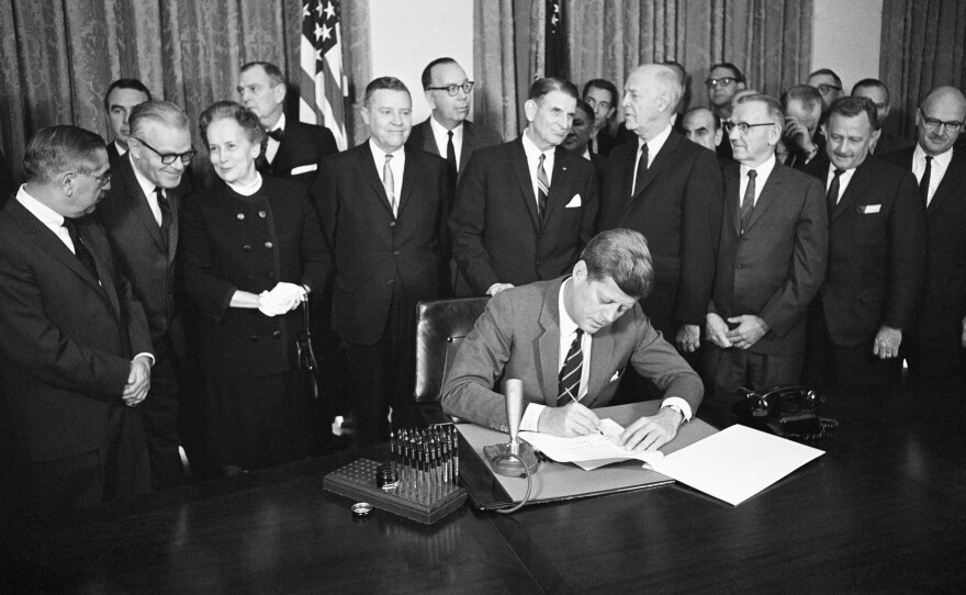
M 131 111 L 128 124 L 130 151 L 111 171 L 111 189 L 98 218 L 150 326 L 155 367 L 142 416 L 151 485 L 164 490 L 183 476 L 178 401 L 184 380 L 184 328 L 175 269 L 184 171 L 196 151 L 188 115 L 173 103 L 141 103 Z

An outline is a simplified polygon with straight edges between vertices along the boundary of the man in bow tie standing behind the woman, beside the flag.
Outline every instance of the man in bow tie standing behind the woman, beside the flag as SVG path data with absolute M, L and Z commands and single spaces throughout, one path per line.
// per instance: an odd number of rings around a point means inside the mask
M 238 97 L 268 133 L 262 148 L 265 161 L 259 158 L 259 170 L 295 180 L 311 190 L 322 160 L 339 148 L 328 128 L 285 117 L 287 92 L 288 85 L 278 66 L 252 61 L 242 67 Z

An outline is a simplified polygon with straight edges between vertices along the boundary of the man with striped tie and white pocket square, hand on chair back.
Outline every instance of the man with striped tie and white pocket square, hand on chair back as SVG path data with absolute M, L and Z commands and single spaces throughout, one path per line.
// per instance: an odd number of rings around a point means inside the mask
M 576 101 L 572 82 L 538 79 L 526 103 L 524 134 L 470 159 L 449 222 L 469 294 L 495 295 L 554 279 L 573 267 L 593 237 L 598 203 L 594 166 L 559 147 Z

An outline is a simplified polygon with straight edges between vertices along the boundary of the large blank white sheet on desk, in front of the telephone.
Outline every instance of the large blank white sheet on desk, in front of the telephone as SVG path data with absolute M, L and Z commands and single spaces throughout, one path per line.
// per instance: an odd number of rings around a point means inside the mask
M 673 452 L 651 469 L 738 506 L 823 450 L 745 426 L 731 426 Z

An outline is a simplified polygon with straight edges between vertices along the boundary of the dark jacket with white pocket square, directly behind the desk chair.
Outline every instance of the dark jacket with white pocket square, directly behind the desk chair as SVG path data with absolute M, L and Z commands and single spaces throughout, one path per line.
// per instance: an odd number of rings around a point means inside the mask
M 593 164 L 562 147 L 553 159 L 547 210 L 538 218 L 523 139 L 474 153 L 449 222 L 453 256 L 473 294 L 483 295 L 493 283 L 524 285 L 565 274 L 594 236 Z

